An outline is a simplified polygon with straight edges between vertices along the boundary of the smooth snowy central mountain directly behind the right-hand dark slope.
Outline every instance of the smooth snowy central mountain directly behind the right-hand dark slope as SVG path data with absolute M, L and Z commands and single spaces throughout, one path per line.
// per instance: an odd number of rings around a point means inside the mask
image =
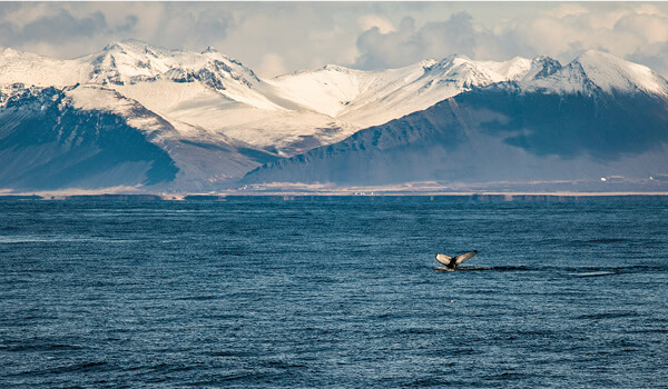
M 286 99 L 365 128 L 424 110 L 473 88 L 544 77 L 554 71 L 554 66 L 559 67 L 559 62 L 547 57 L 493 62 L 450 56 L 441 61 L 425 60 L 381 71 L 326 66 L 269 82 Z

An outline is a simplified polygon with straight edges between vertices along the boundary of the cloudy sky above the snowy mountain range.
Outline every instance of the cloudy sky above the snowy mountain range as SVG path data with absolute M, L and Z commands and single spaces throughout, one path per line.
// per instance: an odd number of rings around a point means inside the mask
M 69 59 L 124 39 L 210 46 L 261 77 L 453 53 L 567 63 L 588 49 L 668 77 L 666 2 L 0 2 L 0 47 Z

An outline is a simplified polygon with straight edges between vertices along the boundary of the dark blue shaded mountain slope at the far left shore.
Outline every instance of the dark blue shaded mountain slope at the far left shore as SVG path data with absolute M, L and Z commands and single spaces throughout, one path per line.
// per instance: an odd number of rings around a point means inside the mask
M 80 111 L 55 88 L 24 90 L 0 109 L 0 187 L 96 188 L 174 180 L 169 154 L 116 114 Z

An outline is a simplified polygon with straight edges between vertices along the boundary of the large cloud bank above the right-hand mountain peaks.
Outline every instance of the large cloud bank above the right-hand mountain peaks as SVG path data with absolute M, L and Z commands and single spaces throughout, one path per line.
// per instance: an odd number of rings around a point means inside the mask
M 356 63 L 366 69 L 397 67 L 454 52 L 495 60 L 548 54 L 570 61 L 587 49 L 597 49 L 668 74 L 664 61 L 668 56 L 661 53 L 668 47 L 665 9 L 665 4 L 642 3 L 548 3 L 531 17 L 503 17 L 488 24 L 468 11 L 422 26 L 411 18 L 412 23 L 395 31 L 362 33 Z

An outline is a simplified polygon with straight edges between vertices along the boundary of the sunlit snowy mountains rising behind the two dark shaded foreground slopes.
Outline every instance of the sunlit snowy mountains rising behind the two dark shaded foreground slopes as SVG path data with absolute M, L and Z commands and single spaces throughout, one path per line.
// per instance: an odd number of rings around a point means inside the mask
M 531 61 L 520 58 L 477 62 L 451 56 L 403 69 L 326 66 L 262 80 L 210 48 L 197 53 L 130 40 L 69 61 L 7 49 L 0 54 L 0 83 L 104 86 L 168 121 L 285 157 L 426 109 L 464 90 L 519 79 L 530 68 Z

